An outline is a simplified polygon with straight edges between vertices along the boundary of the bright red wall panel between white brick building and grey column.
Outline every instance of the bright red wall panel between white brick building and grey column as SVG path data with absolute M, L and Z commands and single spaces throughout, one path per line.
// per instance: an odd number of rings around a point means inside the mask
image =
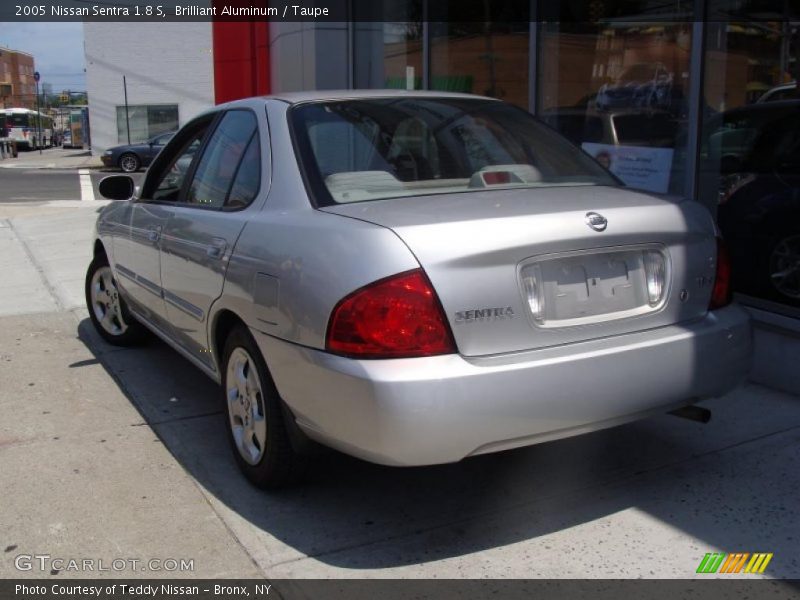
M 217 104 L 270 93 L 269 23 L 212 21 Z

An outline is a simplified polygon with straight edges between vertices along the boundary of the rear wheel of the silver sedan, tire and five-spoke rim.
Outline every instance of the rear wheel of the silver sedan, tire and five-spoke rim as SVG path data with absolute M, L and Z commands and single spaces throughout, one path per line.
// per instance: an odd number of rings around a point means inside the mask
M 261 489 L 294 483 L 304 461 L 292 448 L 278 390 L 244 326 L 228 335 L 222 368 L 226 430 L 239 468 Z

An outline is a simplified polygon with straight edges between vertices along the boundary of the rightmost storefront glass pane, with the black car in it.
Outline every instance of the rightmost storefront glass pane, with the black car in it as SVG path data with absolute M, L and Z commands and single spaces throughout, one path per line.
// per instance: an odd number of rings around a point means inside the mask
M 783 0 L 764 0 L 754 14 L 741 6 L 709 4 L 700 199 L 717 207 L 734 291 L 750 304 L 797 314 L 800 11 L 795 5 L 790 13 Z

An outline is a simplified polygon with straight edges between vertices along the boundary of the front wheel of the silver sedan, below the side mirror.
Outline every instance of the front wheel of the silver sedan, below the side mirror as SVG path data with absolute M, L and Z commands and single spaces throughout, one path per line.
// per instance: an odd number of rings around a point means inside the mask
M 89 264 L 85 291 L 89 318 L 100 337 L 114 346 L 132 346 L 142 341 L 144 326 L 128 312 L 105 256 L 96 256 Z

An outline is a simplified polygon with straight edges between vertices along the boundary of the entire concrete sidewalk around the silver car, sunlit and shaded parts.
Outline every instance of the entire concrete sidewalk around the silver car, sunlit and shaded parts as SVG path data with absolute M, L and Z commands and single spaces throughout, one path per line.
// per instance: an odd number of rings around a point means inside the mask
M 772 552 L 764 577 L 800 578 L 795 396 L 746 385 L 705 426 L 664 415 L 424 469 L 331 453 L 267 494 L 236 470 L 217 386 L 159 342 L 94 333 L 95 210 L 21 211 L 0 207 L 0 577 L 48 575 L 14 567 L 40 553 L 194 560 L 159 576 L 691 578 L 707 552 Z

